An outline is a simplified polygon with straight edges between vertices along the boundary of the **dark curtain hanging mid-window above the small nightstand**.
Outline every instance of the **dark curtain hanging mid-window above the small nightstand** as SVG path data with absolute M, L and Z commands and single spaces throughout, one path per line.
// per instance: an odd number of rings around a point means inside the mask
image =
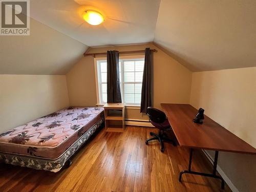
M 106 55 L 107 63 L 107 102 L 121 103 L 120 81 L 119 81 L 119 52 L 108 51 Z

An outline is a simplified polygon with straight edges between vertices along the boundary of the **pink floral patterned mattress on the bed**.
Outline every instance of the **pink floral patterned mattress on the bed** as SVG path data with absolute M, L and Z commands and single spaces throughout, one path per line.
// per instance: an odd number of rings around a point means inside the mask
M 0 152 L 57 159 L 95 123 L 103 108 L 69 107 L 0 134 Z

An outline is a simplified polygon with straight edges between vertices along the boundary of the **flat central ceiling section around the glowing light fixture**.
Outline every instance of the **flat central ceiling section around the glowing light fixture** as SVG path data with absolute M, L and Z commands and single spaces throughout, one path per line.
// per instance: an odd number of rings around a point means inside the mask
M 153 41 L 160 0 L 31 0 L 30 15 L 87 46 Z M 92 26 L 81 14 L 93 9 L 105 20 Z

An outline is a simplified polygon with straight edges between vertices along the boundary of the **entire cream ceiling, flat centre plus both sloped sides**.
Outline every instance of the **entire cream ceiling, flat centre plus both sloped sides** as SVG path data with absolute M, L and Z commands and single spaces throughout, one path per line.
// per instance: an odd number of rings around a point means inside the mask
M 104 22 L 84 22 L 86 9 Z M 29 37 L 0 36 L 0 74 L 66 74 L 88 46 L 151 41 L 191 71 L 256 66 L 255 0 L 30 0 L 30 10 Z

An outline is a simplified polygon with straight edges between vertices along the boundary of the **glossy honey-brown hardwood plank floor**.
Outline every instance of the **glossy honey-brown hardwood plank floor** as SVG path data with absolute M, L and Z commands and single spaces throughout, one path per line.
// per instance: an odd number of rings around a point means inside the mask
M 127 126 L 124 133 L 102 129 L 74 156 L 71 167 L 58 173 L 0 165 L 0 191 L 231 191 L 217 179 L 183 175 L 189 151 L 157 141 L 145 144 L 156 129 Z M 192 169 L 211 173 L 212 165 L 200 151 Z

